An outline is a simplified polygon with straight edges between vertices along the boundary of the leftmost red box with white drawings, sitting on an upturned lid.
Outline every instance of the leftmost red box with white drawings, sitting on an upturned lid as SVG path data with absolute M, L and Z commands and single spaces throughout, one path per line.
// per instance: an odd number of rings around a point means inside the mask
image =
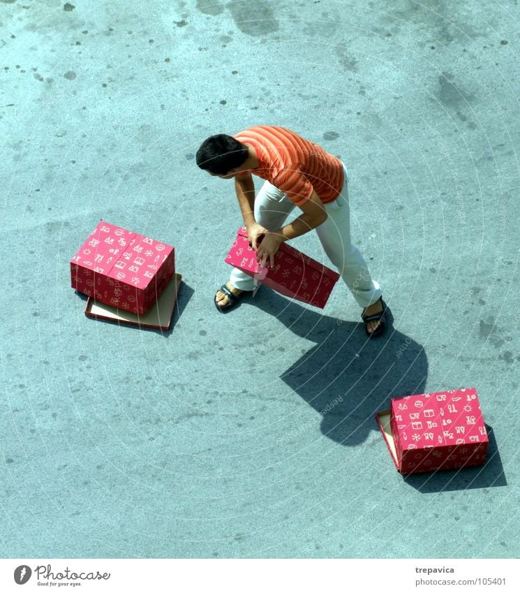
M 173 247 L 105 221 L 70 260 L 78 292 L 140 315 L 156 302 L 174 271 Z

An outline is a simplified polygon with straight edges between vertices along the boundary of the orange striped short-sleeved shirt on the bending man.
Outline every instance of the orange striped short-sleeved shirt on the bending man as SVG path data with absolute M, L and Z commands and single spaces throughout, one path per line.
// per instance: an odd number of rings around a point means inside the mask
M 309 200 L 313 191 L 324 204 L 341 193 L 341 161 L 297 133 L 278 126 L 255 126 L 234 138 L 255 149 L 258 168 L 250 173 L 271 182 L 296 205 Z

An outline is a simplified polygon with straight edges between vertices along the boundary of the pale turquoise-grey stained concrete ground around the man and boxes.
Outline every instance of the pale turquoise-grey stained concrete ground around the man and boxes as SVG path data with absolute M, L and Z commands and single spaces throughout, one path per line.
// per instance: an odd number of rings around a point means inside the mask
M 1 557 L 518 557 L 517 5 L 0 1 Z M 194 154 L 255 124 L 346 162 L 378 342 L 344 285 L 214 309 L 241 218 Z M 170 332 L 84 316 L 99 219 L 176 248 Z M 399 475 L 374 413 L 471 386 L 486 465 Z

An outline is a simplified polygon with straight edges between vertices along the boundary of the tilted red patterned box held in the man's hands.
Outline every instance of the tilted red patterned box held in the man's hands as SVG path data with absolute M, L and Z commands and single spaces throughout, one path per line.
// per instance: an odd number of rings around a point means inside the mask
M 282 243 L 274 256 L 274 267 L 260 267 L 250 247 L 246 227 L 239 228 L 237 238 L 225 262 L 290 298 L 325 307 L 339 274 L 327 266 Z

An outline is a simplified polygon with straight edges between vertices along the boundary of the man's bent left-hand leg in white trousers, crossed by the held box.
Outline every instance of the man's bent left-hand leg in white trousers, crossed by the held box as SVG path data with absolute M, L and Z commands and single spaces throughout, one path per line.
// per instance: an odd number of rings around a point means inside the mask
M 258 224 L 265 226 L 267 230 L 276 230 L 283 226 L 283 222 L 293 210 L 295 205 L 285 196 L 283 191 L 269 182 L 265 182 L 255 198 L 255 220 Z M 242 291 L 252 291 L 255 280 L 242 270 L 233 268 L 230 275 L 228 289 L 239 295 Z M 225 306 L 229 302 L 228 296 L 221 291 L 215 295 L 217 305 Z

